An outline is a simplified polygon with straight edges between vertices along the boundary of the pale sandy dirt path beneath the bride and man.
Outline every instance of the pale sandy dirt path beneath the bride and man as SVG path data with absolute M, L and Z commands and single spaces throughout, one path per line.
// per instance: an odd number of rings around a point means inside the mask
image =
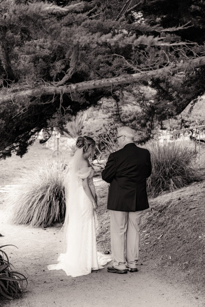
M 105 187 L 96 182 L 100 195 Z M 186 285 L 153 274 L 146 265 L 139 265 L 139 272 L 123 275 L 108 273 L 106 267 L 77 278 L 71 278 L 62 270 L 49 271 L 48 264 L 56 263 L 61 249 L 60 226 L 31 228 L 11 225 L 6 204 L 1 193 L 0 245 L 5 247 L 10 262 L 20 273 L 28 275 L 28 287 L 20 299 L 0 300 L 0 306 L 8 307 L 202 307 L 205 298 Z M 104 193 L 105 194 L 105 193 Z M 101 197 L 98 215 L 101 230 L 97 238 L 101 252 L 109 249 L 108 212 Z M 143 262 L 143 261 L 142 261 Z M 141 262 L 140 262 L 141 263 Z M 144 264 L 144 263 L 143 263 Z

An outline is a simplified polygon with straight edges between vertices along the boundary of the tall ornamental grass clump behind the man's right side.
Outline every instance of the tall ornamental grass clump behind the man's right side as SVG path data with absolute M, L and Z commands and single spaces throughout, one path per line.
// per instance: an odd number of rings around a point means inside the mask
M 147 144 L 152 162 L 152 174 L 148 178 L 148 194 L 156 197 L 187 186 L 197 178 L 194 167 L 193 145 L 185 141 L 153 141 Z

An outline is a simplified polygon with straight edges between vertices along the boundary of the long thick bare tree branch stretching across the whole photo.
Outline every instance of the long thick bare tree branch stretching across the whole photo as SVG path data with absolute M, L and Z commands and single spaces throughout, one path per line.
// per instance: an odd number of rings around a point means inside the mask
M 205 56 L 201 56 L 192 60 L 187 60 L 184 63 L 178 63 L 175 67 L 171 67 L 171 65 L 165 66 L 163 68 L 149 70 L 145 72 L 138 72 L 132 75 L 123 75 L 119 77 L 112 77 L 107 79 L 101 80 L 91 80 L 80 82 L 76 84 L 69 84 L 69 85 L 62 85 L 62 86 L 38 86 L 36 88 L 11 93 L 9 95 L 2 95 L 0 96 L 0 104 L 6 103 L 15 100 L 16 98 L 21 97 L 39 97 L 43 95 L 61 95 L 70 94 L 73 92 L 91 90 L 94 88 L 102 88 L 102 87 L 111 87 L 111 86 L 118 86 L 120 84 L 131 84 L 136 82 L 142 82 L 145 80 L 150 80 L 152 78 L 164 78 L 164 76 L 174 75 L 178 72 L 185 71 L 186 69 L 190 68 L 197 68 L 205 66 Z

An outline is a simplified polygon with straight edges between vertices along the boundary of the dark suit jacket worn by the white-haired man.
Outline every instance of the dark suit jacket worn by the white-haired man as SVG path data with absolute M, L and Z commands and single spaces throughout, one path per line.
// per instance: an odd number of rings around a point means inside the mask
M 107 208 L 128 212 L 149 208 L 146 178 L 151 173 L 149 150 L 128 143 L 111 153 L 102 171 L 102 179 L 110 183 Z

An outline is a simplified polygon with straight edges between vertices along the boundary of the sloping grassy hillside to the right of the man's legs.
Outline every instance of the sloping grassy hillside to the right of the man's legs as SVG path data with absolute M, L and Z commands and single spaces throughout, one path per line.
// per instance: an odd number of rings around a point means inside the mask
M 142 259 L 163 274 L 205 286 L 205 181 L 150 201 L 142 223 Z

